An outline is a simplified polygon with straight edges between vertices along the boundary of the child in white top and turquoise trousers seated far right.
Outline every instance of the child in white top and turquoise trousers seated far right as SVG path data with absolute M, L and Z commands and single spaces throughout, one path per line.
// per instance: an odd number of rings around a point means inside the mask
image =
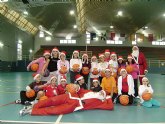
M 149 80 L 147 77 L 143 77 L 142 78 L 142 85 L 139 86 L 139 96 L 140 96 L 140 103 L 144 106 L 144 107 L 148 107 L 151 108 L 153 106 L 157 106 L 160 107 L 160 103 L 155 100 L 155 99 L 151 99 L 149 101 L 144 101 L 142 99 L 142 94 L 143 93 L 151 93 L 153 94 L 153 89 L 149 83 Z

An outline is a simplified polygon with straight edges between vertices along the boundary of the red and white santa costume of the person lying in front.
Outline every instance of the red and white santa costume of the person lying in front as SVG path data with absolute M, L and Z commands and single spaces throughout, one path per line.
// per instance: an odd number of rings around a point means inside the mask
M 105 91 L 94 93 L 90 90 L 80 89 L 74 95 L 71 93 L 62 94 L 38 102 L 33 106 L 31 115 L 59 115 L 77 110 L 113 110 L 113 108 L 112 100 L 110 97 L 106 98 Z

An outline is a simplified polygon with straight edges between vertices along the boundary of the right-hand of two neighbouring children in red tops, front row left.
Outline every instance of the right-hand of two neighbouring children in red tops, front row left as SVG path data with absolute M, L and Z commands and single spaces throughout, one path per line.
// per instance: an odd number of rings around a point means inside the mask
M 60 84 L 57 86 L 59 95 L 66 93 L 66 86 L 67 86 L 66 76 L 63 75 L 63 76 L 61 76 Z

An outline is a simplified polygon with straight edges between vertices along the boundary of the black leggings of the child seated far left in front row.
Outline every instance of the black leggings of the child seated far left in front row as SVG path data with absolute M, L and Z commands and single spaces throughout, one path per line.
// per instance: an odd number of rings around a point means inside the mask
M 35 94 L 34 97 L 28 98 L 26 96 L 26 91 L 20 92 L 21 104 L 23 104 L 23 105 L 25 104 L 25 101 L 33 101 L 33 100 L 35 100 L 36 97 L 37 97 L 37 93 Z

